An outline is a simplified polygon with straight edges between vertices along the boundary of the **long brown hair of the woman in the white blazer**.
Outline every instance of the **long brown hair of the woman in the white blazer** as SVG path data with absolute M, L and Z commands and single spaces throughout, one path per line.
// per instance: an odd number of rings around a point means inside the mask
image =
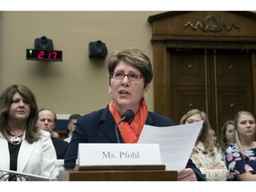
M 27 100 L 30 106 L 30 114 L 27 119 L 26 124 L 26 140 L 28 143 L 33 143 L 40 139 L 40 130 L 36 127 L 36 121 L 38 118 L 38 107 L 36 104 L 36 97 L 33 92 L 31 92 L 27 86 L 21 84 L 12 84 L 8 86 L 4 92 L 0 95 L 0 131 L 4 138 L 7 140 L 7 121 L 8 112 L 12 104 L 13 95 L 19 92 L 20 95 Z

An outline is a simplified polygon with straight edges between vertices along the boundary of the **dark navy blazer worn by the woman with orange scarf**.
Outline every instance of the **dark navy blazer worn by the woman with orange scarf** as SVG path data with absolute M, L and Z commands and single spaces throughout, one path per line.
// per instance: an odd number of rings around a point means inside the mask
M 170 118 L 148 111 L 146 124 L 153 126 L 172 126 L 174 123 Z M 124 143 L 118 132 L 120 142 Z M 68 145 L 68 151 L 64 158 L 66 169 L 74 169 L 79 143 L 117 143 L 116 122 L 107 108 L 102 108 L 90 114 L 80 116 L 76 122 L 76 128 Z M 205 180 L 196 165 L 190 160 L 188 167 L 196 170 L 199 180 Z

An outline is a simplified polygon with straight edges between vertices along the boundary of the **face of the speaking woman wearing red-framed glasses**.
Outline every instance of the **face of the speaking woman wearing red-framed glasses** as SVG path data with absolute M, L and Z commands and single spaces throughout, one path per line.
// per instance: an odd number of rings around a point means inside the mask
M 137 68 L 121 61 L 117 64 L 114 72 L 122 72 L 124 74 L 140 74 Z M 141 74 L 140 74 L 141 75 Z M 132 109 L 136 112 L 140 108 L 140 100 L 148 93 L 149 85 L 144 88 L 144 80 L 132 82 L 128 76 L 124 76 L 122 80 L 110 79 L 109 92 L 111 92 L 115 102 L 116 109 L 124 113 L 127 109 Z

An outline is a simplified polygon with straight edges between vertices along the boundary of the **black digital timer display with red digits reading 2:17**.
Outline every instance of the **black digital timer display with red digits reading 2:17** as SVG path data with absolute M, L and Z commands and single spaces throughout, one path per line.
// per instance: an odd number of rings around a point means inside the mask
M 27 60 L 61 61 L 62 52 L 27 49 Z

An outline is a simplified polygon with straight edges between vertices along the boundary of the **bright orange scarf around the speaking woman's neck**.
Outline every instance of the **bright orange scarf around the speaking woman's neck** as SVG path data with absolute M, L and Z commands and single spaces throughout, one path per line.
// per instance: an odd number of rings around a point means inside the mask
M 121 116 L 116 111 L 116 107 L 113 100 L 110 101 L 108 109 L 112 114 L 112 116 L 114 117 L 115 122 L 117 124 L 121 120 Z M 146 102 L 144 100 L 141 100 L 140 110 L 134 116 L 132 123 L 128 124 L 128 122 L 121 122 L 118 125 L 118 130 L 121 133 L 124 143 L 138 142 L 142 128 L 146 123 L 147 116 L 148 116 L 148 108 L 147 108 Z

